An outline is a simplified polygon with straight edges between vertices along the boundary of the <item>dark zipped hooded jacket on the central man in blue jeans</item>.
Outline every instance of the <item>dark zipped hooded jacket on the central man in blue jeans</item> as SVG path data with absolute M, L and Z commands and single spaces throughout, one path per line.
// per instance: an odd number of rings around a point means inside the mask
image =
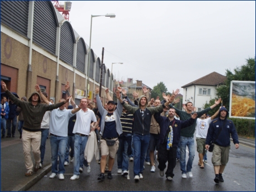
M 141 95 L 139 98 L 139 107 L 132 107 L 126 102 L 122 102 L 122 105 L 125 107 L 125 109 L 131 114 L 134 114 L 134 127 L 133 127 L 133 133 L 139 134 L 139 135 L 149 135 L 150 134 L 150 123 L 151 123 L 151 117 L 156 112 L 160 112 L 164 109 L 164 104 L 159 105 L 157 107 L 146 107 L 143 111 L 141 110 L 140 100 L 142 97 L 145 97 L 144 95 Z M 147 106 L 147 98 L 146 98 L 146 104 Z

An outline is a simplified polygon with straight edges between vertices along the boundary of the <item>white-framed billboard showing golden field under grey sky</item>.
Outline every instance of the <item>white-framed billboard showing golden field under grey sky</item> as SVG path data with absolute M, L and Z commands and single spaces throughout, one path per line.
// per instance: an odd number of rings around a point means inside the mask
M 255 119 L 255 81 L 231 81 L 229 117 Z

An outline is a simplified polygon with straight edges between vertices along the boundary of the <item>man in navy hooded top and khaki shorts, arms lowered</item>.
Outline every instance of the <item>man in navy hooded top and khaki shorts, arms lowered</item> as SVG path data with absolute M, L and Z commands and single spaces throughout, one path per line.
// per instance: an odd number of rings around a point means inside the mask
M 224 182 L 223 171 L 229 160 L 230 134 L 235 144 L 235 149 L 239 148 L 237 131 L 233 121 L 227 119 L 228 110 L 221 107 L 219 117 L 211 121 L 205 141 L 205 148 L 209 150 L 211 141 L 214 141 L 213 157 L 211 163 L 214 166 L 215 183 Z

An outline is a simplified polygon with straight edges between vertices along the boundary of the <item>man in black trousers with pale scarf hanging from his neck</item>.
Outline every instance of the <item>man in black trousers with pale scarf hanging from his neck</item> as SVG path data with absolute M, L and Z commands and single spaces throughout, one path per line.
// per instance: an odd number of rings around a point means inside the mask
M 165 172 L 167 180 L 173 180 L 173 170 L 176 166 L 176 150 L 180 141 L 180 130 L 192 125 L 197 117 L 194 113 L 191 118 L 186 121 L 174 119 L 175 109 L 171 108 L 168 111 L 168 117 L 160 116 L 160 113 L 154 115 L 156 122 L 160 125 L 160 140 L 158 150 L 158 168 L 160 175 L 164 176 L 166 161 L 168 168 Z

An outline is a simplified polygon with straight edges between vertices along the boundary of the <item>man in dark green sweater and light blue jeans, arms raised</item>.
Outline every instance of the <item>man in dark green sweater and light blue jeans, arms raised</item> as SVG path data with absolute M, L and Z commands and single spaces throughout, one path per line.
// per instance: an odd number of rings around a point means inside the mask
M 221 99 L 219 99 L 218 101 L 215 100 L 214 105 L 206 108 L 203 111 L 196 112 L 198 114 L 198 117 L 200 117 L 201 115 L 205 114 L 206 112 L 210 111 L 211 109 L 219 105 L 220 101 Z M 176 114 L 180 116 L 181 121 L 186 121 L 190 119 L 191 115 L 193 115 L 194 107 L 192 102 L 187 102 L 185 104 L 186 110 L 187 110 L 186 112 L 176 109 L 171 104 L 169 106 L 176 110 Z M 180 132 L 180 170 L 182 174 L 181 177 L 184 179 L 186 179 L 186 173 L 189 174 L 190 178 L 193 177 L 191 169 L 192 169 L 192 164 L 195 156 L 195 144 L 194 144 L 195 124 L 196 124 L 196 121 L 194 121 L 193 125 L 190 125 L 189 127 L 182 129 Z M 187 164 L 186 164 L 186 146 L 188 146 L 188 149 L 189 149 L 189 159 Z

